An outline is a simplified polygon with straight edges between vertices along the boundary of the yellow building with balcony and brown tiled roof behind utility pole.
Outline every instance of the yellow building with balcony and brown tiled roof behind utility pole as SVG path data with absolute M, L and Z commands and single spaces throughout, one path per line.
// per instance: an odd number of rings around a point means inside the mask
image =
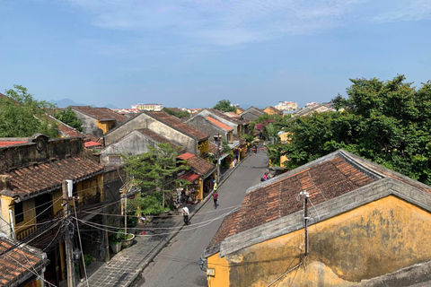
M 103 167 L 84 149 L 83 138 L 50 140 L 45 135 L 0 148 L 0 159 L 0 216 L 9 223 L 1 231 L 44 250 L 53 263 L 46 280 L 58 285 L 66 267 L 62 184 L 72 180 L 75 201 L 69 204 L 73 212 L 74 206 L 83 211 L 103 199 Z

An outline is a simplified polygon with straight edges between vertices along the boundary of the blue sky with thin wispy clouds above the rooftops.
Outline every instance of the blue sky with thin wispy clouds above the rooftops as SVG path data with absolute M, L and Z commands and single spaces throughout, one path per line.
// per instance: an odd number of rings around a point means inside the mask
M 431 0 L 0 0 L 0 92 L 265 108 L 431 80 Z

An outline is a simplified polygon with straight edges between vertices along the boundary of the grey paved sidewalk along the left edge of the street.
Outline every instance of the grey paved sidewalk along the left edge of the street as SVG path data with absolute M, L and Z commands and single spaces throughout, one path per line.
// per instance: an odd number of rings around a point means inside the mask
M 239 162 L 247 161 L 249 154 Z M 235 169 L 224 170 L 221 175 L 219 185 L 222 185 L 224 181 L 230 177 Z M 207 201 L 212 197 L 212 193 L 208 194 L 204 200 L 198 204 L 187 204 L 189 207 L 190 217 L 192 219 L 195 213 L 198 213 L 199 209 L 202 208 Z M 180 215 L 180 214 L 179 214 Z M 164 246 L 180 231 L 180 226 L 183 224 L 182 216 L 170 216 L 166 219 L 158 219 L 154 222 L 149 222 L 145 225 L 148 228 L 146 232 L 149 236 L 136 236 L 135 243 L 133 246 L 127 249 L 121 250 L 117 255 L 111 258 L 110 262 L 93 262 L 87 268 L 88 283 L 78 283 L 78 287 L 127 287 L 136 281 L 136 278 L 145 267 L 157 256 L 157 254 L 164 248 Z M 151 230 L 157 228 L 174 228 L 178 227 L 175 232 L 165 234 L 170 231 L 161 230 L 155 232 Z M 139 226 L 136 227 L 136 232 L 140 232 L 142 229 Z M 151 231 L 150 231 L 151 230 Z M 164 233 L 161 235 L 157 235 Z

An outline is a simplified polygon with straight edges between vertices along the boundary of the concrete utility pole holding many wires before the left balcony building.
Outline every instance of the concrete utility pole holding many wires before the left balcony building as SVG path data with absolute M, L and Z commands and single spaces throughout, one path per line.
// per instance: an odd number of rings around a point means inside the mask
M 72 251 L 72 240 L 70 239 L 70 211 L 69 211 L 69 193 L 68 193 L 68 182 L 63 181 L 63 213 L 66 221 L 66 229 L 63 234 L 66 245 L 66 266 L 67 266 L 67 287 L 75 287 L 75 267 L 74 267 L 74 256 Z

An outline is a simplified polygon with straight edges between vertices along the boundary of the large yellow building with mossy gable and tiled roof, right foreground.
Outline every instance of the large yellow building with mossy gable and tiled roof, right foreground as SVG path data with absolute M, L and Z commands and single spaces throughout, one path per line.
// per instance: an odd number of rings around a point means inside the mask
M 248 190 L 205 251 L 208 286 L 429 286 L 430 227 L 431 187 L 333 152 Z

